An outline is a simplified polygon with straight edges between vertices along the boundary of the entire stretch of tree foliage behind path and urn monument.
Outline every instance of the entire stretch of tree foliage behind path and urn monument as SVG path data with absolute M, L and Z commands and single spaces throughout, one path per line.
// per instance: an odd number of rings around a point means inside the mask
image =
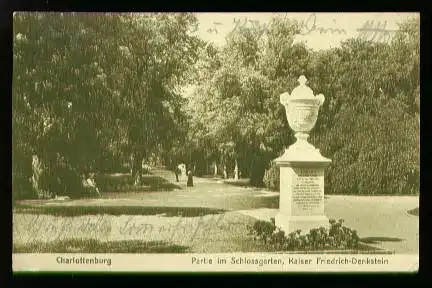
M 294 141 L 279 95 L 302 74 L 326 97 L 310 137 L 333 161 L 326 193 L 418 193 L 417 18 L 388 43 L 319 52 L 287 19 L 236 27 L 222 46 L 193 36 L 197 24 L 188 13 L 16 14 L 14 196 L 79 194 L 80 175 L 125 162 L 139 186 L 151 159 L 195 175 L 237 165 L 277 190 L 271 161 Z

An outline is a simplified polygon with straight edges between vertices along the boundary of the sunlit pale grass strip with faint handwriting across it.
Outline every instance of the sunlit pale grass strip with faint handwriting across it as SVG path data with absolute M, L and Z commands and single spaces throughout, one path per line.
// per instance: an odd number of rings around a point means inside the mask
M 212 238 L 224 231 L 245 229 L 243 222 L 225 218 L 225 214 L 201 217 L 179 217 L 175 221 L 154 222 L 140 215 L 119 221 L 109 215 L 90 217 L 52 217 L 47 215 L 15 215 L 14 242 L 56 241 L 70 238 L 142 239 L 163 241 L 179 239 L 193 242 Z M 195 218 L 195 219 L 194 219 Z M 198 218 L 198 219 L 197 219 Z M 119 237 L 119 238 L 118 238 Z

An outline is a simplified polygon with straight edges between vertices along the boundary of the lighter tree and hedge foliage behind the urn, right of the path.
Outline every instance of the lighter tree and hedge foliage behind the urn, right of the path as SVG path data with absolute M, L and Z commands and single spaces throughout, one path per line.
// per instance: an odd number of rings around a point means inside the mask
M 333 161 L 326 193 L 418 193 L 418 19 L 388 43 L 350 39 L 320 52 L 295 43 L 298 33 L 296 22 L 275 18 L 267 29 L 243 26 L 225 46 L 202 52 L 191 115 L 194 138 L 212 146 L 198 148 L 221 162 L 236 159 L 252 184 L 279 189 L 271 160 L 294 141 L 279 95 L 303 74 L 326 97 L 310 137 Z

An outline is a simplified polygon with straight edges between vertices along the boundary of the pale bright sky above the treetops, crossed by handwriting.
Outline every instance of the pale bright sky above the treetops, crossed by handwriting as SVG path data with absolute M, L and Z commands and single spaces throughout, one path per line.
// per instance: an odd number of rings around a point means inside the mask
M 314 50 L 321 50 L 336 47 L 341 41 L 348 38 L 359 36 L 359 31 L 365 23 L 369 23 L 370 28 L 379 28 L 387 32 L 376 36 L 375 40 L 381 36 L 381 40 L 388 38 L 398 28 L 397 23 L 403 22 L 410 17 L 419 17 L 418 13 L 197 13 L 199 20 L 198 35 L 204 39 L 213 41 L 216 44 L 222 44 L 225 36 L 237 24 L 255 20 L 261 23 L 269 23 L 275 15 L 286 16 L 290 19 L 305 21 L 304 32 L 316 29 L 307 35 L 300 35 L 296 41 L 305 41 L 306 45 Z M 369 21 L 369 22 L 368 22 Z M 209 31 L 209 29 L 216 29 Z M 368 37 L 371 39 L 374 35 L 369 32 Z

